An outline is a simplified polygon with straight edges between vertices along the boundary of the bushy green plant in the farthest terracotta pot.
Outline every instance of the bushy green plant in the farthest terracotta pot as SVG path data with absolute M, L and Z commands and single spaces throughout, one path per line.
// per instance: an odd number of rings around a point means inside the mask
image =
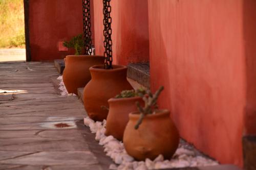
M 72 37 L 70 41 L 64 41 L 63 46 L 74 48 L 76 51 L 75 55 L 81 55 L 83 49 L 82 34 L 78 34 L 77 36 Z

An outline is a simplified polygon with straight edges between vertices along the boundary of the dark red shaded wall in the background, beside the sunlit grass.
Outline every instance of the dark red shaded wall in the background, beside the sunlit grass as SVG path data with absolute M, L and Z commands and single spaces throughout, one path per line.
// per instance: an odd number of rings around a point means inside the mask
M 71 37 L 82 33 L 82 30 L 81 0 L 37 0 L 29 2 L 32 61 L 52 61 L 74 54 L 74 51 L 59 52 L 57 44 L 59 41 L 70 40 Z

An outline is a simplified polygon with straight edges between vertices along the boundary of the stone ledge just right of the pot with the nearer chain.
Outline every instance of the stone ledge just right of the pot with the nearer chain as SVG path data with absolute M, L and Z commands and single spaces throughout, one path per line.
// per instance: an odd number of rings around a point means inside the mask
M 150 88 L 150 64 L 133 63 L 127 65 L 127 78 L 132 79 L 139 84 Z

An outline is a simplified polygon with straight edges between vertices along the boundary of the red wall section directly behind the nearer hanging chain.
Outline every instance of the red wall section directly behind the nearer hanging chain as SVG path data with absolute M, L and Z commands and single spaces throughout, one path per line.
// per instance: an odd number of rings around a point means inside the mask
M 149 59 L 147 0 L 112 0 L 112 40 L 115 64 L 147 62 Z M 103 55 L 102 1 L 94 0 L 95 48 Z

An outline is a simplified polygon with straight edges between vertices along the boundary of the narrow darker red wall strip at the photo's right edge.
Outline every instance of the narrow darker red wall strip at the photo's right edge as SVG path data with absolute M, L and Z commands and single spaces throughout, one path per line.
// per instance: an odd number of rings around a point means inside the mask
M 244 43 L 246 58 L 245 135 L 256 136 L 256 1 L 244 0 Z

